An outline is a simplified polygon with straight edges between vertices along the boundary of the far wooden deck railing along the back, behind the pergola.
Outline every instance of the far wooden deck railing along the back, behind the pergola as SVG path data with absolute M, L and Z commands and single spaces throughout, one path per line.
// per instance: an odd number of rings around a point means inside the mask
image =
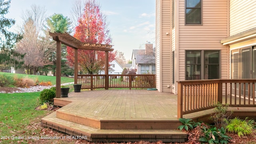
M 106 82 L 104 74 L 78 75 L 78 84 L 82 84 L 81 89 L 91 90 L 96 88 L 155 88 L 156 76 L 154 74 L 110 74 L 108 86 Z

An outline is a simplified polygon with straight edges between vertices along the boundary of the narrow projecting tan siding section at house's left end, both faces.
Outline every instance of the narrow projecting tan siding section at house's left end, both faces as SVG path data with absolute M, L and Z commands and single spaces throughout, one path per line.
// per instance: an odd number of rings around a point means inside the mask
M 172 0 L 156 0 L 156 88 L 171 92 L 171 4 Z M 166 32 L 169 34 L 166 35 Z

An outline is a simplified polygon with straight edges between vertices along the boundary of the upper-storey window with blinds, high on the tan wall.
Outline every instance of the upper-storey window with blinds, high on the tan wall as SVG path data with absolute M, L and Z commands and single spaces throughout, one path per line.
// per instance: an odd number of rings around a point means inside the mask
M 201 23 L 201 0 L 186 0 L 186 24 Z

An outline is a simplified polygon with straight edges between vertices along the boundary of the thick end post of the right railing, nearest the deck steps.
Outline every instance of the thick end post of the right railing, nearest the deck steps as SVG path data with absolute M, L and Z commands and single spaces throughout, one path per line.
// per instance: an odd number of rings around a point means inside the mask
M 183 83 L 178 82 L 178 108 L 177 118 L 183 117 Z

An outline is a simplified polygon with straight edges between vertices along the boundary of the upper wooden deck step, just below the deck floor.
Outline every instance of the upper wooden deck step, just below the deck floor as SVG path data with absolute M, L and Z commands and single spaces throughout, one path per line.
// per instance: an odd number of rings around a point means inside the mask
M 72 105 L 72 104 L 71 104 Z M 68 110 L 62 107 L 56 111 L 56 118 L 99 129 L 115 130 L 175 130 L 179 120 L 170 118 L 102 118 Z

